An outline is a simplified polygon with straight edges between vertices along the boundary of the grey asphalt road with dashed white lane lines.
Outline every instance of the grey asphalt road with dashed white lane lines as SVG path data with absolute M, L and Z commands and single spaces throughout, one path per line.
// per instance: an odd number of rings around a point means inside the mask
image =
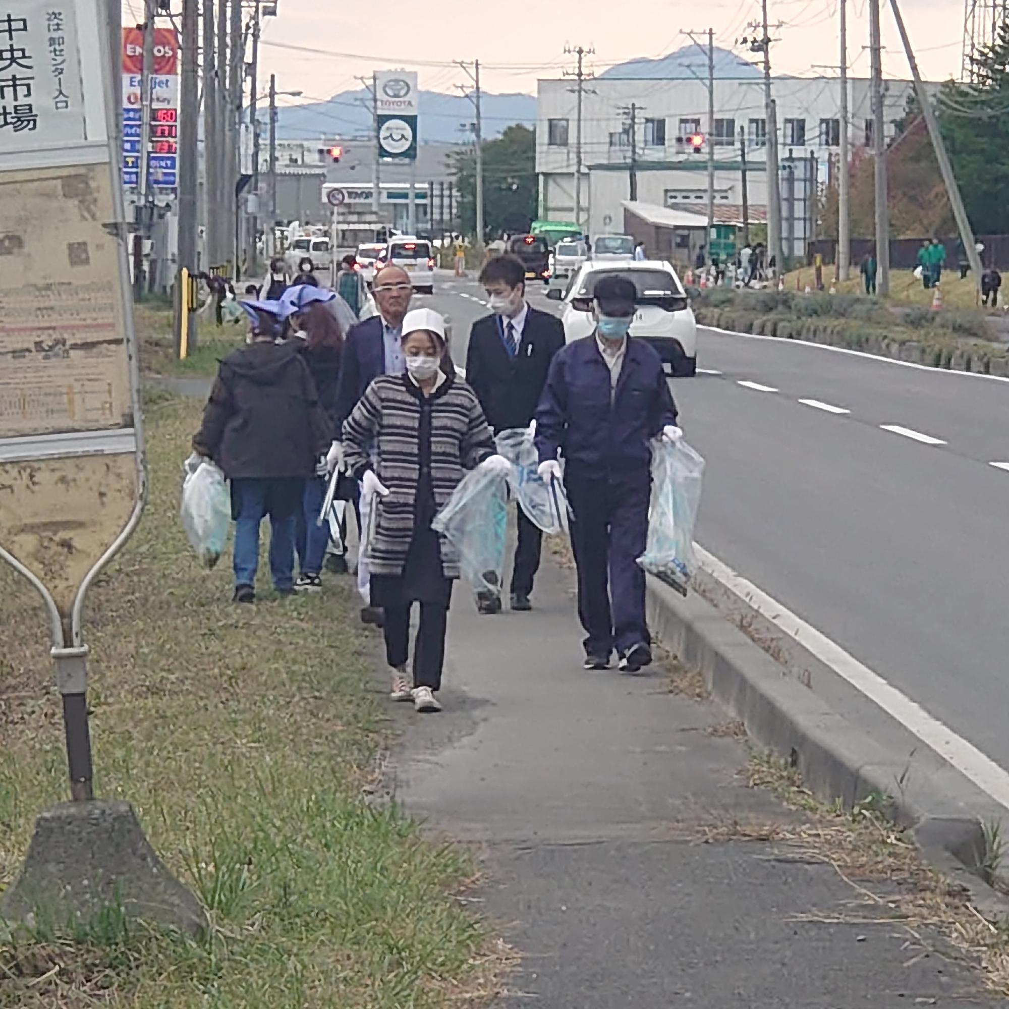
M 464 360 L 482 292 L 432 304 Z M 698 367 L 698 541 L 1009 769 L 1009 383 L 711 330 Z

